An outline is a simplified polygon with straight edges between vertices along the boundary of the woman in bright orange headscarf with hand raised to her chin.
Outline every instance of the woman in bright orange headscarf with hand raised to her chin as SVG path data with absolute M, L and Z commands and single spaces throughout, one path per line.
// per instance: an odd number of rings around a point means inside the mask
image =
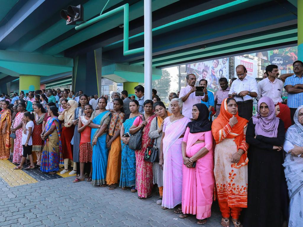
M 235 99 L 227 98 L 211 126 L 216 142 L 216 189 L 224 227 L 229 226 L 230 215 L 235 227 L 241 227 L 239 216 L 242 208 L 247 207 L 247 123 L 248 120 L 239 117 Z

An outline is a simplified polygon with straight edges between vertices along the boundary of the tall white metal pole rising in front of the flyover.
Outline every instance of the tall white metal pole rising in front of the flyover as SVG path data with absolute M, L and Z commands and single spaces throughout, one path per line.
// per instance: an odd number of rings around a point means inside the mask
M 144 99 L 151 99 L 151 0 L 144 0 Z

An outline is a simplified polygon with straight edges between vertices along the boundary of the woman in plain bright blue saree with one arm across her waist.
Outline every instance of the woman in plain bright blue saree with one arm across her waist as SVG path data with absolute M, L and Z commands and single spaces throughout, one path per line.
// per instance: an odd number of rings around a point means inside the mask
M 99 110 L 92 113 L 92 123 L 89 127 L 92 128 L 91 143 L 93 146 L 92 156 L 92 185 L 106 186 L 106 168 L 108 160 L 108 149 L 106 147 L 106 132 L 107 125 L 110 121 L 110 112 L 105 109 L 107 100 L 102 97 L 98 99 Z

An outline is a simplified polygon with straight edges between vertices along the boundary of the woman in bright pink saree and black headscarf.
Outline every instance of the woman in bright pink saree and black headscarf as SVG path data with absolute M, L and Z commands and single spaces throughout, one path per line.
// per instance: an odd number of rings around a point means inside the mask
M 183 165 L 182 212 L 179 218 L 196 215 L 204 225 L 211 215 L 215 175 L 214 146 L 208 108 L 198 103 L 192 107 L 193 121 L 186 127 L 182 141 Z

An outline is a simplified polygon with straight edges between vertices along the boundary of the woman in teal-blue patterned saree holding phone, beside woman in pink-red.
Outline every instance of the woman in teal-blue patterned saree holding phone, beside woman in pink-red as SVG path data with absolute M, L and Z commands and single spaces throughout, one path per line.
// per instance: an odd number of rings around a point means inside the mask
M 139 103 L 137 100 L 131 100 L 129 102 L 129 109 L 131 114 L 129 119 L 125 120 L 122 124 L 120 131 L 121 136 L 121 175 L 120 175 L 120 187 L 126 189 L 126 187 L 132 187 L 132 192 L 136 192 L 136 156 L 135 150 L 132 150 L 128 146 L 129 137 L 124 137 L 125 133 L 129 133 L 129 128 L 132 127 L 136 117 L 140 115 Z

